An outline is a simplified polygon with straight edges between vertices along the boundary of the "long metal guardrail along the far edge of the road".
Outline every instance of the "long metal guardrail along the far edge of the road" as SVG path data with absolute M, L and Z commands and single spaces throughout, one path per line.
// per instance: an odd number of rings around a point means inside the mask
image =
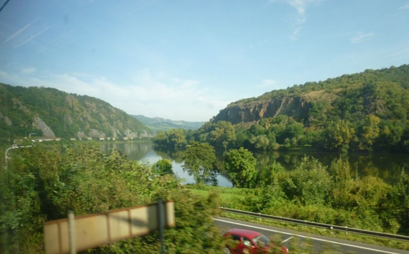
M 330 225 L 330 224 L 323 224 L 323 223 L 317 223 L 317 222 L 300 220 L 300 219 L 284 218 L 284 217 L 273 216 L 273 215 L 265 215 L 265 214 L 235 210 L 235 209 L 230 209 L 230 208 L 225 208 L 225 207 L 219 207 L 219 208 L 229 213 L 248 215 L 248 216 L 254 216 L 254 217 L 259 217 L 259 218 L 274 219 L 274 220 L 279 220 L 279 221 L 284 221 L 284 222 L 291 222 L 291 223 L 303 224 L 303 225 L 314 226 L 314 227 L 328 228 L 328 229 L 333 229 L 333 230 L 352 232 L 352 233 L 364 234 L 364 235 L 369 235 L 369 236 L 379 236 L 379 237 L 409 241 L 409 236 L 393 235 L 393 234 L 388 234 L 388 233 L 374 232 L 374 231 L 369 231 L 369 230 L 349 228 L 349 227 L 336 226 L 336 225 Z

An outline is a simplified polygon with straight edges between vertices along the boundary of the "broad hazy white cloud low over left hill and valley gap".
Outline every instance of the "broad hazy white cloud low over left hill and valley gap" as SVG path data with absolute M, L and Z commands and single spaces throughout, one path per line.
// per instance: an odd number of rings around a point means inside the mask
M 125 112 L 172 120 L 208 121 L 233 99 L 222 99 L 200 81 L 152 74 L 136 75 L 132 84 L 117 85 L 102 76 L 81 73 L 47 74 L 27 78 L 0 71 L 0 82 L 19 86 L 52 87 L 60 91 L 93 96 Z

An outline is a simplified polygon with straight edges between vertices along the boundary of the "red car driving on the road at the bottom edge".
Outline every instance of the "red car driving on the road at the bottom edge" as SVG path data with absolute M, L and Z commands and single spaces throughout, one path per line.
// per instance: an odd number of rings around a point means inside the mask
M 269 249 L 276 247 L 263 234 L 247 229 L 230 229 L 224 234 L 224 237 L 235 241 L 233 246 L 226 246 L 226 254 L 268 253 Z M 281 246 L 280 249 L 282 254 L 288 254 L 288 249 L 285 246 Z

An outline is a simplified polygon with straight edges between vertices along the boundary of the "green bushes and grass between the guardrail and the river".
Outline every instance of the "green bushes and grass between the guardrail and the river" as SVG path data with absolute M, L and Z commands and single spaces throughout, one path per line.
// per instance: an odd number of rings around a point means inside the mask
M 342 158 L 325 167 L 304 157 L 294 171 L 285 171 L 280 163 L 266 166 L 257 175 L 255 188 L 219 187 L 219 191 L 221 205 L 227 208 L 409 235 L 408 179 L 402 171 L 399 183 L 392 186 L 377 177 L 354 175 Z

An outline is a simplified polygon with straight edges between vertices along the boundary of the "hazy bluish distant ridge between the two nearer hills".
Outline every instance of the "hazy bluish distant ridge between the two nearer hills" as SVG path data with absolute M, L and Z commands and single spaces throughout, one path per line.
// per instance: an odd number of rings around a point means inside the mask
M 141 123 L 149 127 L 153 131 L 183 128 L 183 129 L 198 129 L 205 122 L 188 122 L 188 121 L 175 121 L 170 119 L 165 119 L 161 117 L 146 117 L 144 115 L 132 115 L 134 118 L 138 119 Z

